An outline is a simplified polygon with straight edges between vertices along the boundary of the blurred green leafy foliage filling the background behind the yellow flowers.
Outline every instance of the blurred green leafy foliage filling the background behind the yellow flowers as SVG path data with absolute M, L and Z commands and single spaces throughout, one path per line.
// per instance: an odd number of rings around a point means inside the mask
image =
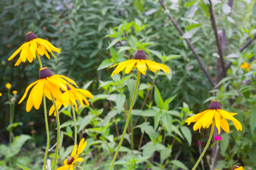
M 18 56 L 7 61 L 23 44 L 26 33 L 33 31 L 38 37 L 61 48 L 56 58 L 48 60 L 42 57 L 43 66 L 49 67 L 55 74 L 72 78 L 94 95 L 90 101 L 93 107 L 77 112 L 80 138 L 84 135 L 88 142 L 82 154 L 85 160 L 82 167 L 108 169 L 111 155 L 119 142 L 118 133 L 122 133 L 125 124 L 125 113 L 129 109 L 136 76 L 136 73 L 120 73 L 110 78 L 113 68 L 108 67 L 133 58 L 136 50 L 142 48 L 148 59 L 170 67 L 171 74 L 166 75 L 161 71 L 154 74 L 148 70 L 142 76 L 131 121 L 133 124 L 137 122 L 134 139 L 127 135 L 116 162 L 118 169 L 143 169 L 145 165 L 151 169 L 192 167 L 199 156 L 197 140 L 206 143 L 208 130 L 201 130 L 199 134 L 184 121 L 188 114 L 190 116 L 191 113 L 207 109 L 207 101 L 212 99 L 220 100 L 226 111 L 239 113 L 236 118 L 243 126 L 242 132 L 236 131 L 229 122 L 231 131 L 222 134 L 220 154 L 223 159 L 218 161 L 217 168 L 230 169 L 234 164 L 256 168 L 255 42 L 243 52 L 238 52 L 248 37 L 253 38 L 255 33 L 253 3 L 234 1 L 232 15 L 226 7 L 228 1 L 214 5 L 218 28 L 220 32 L 222 28 L 226 31 L 225 61 L 232 62 L 232 66 L 228 76 L 216 86 L 220 88 L 213 88 L 184 40 L 187 38 L 192 42 L 215 80 L 218 76 L 216 59 L 219 56 L 207 2 L 164 1 L 168 10 L 163 11 L 160 3 L 154 0 L 0 1 L 0 143 L 6 144 L 8 141 L 9 106 L 5 103 L 8 99 L 5 84 L 11 83 L 12 90 L 18 91 L 19 101 L 28 84 L 38 79 L 36 70 L 39 64 L 36 60 L 32 63 L 22 62 L 19 66 L 14 66 Z M 183 37 L 168 20 L 168 14 L 185 32 Z M 245 61 L 251 65 L 250 71 L 240 68 Z M 51 103 L 48 103 L 49 108 Z M 36 122 L 36 146 L 29 140 L 31 143 L 23 148 L 44 150 L 43 108 L 27 113 L 25 104 L 23 102 L 15 107 L 14 122 L 22 122 L 22 126 L 13 128 L 14 134 L 31 135 L 29 122 Z M 138 120 L 137 116 L 140 116 Z M 71 117 L 70 108 L 63 109 L 60 117 L 63 131 L 61 161 L 73 148 L 70 146 L 73 143 Z M 56 125 L 54 117 L 49 117 L 49 120 L 51 145 L 54 145 Z M 142 134 L 141 150 L 137 151 Z M 5 157 L 8 147 L 0 147 L 0 156 Z M 36 151 L 31 151 L 33 156 L 30 157 L 24 156 L 24 152 L 15 153 L 20 159 L 15 158 L 14 162 L 39 169 L 43 159 L 38 158 L 43 157 L 43 153 L 38 149 Z M 52 158 L 51 154 L 49 158 Z M 0 160 L 1 169 L 6 165 L 6 159 Z

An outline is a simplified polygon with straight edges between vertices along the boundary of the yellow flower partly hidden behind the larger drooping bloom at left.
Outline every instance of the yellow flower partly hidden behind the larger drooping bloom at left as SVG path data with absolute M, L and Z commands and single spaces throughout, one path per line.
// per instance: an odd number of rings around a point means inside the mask
M 90 105 L 85 96 L 93 99 L 93 96 L 89 91 L 75 88 L 67 84 L 67 91 L 64 91 L 62 94 L 63 103 L 61 103 L 59 100 L 56 100 L 57 108 L 60 109 L 61 105 L 67 107 L 68 104 L 71 105 L 71 103 L 73 103 L 75 105 L 76 111 L 78 111 L 76 100 L 79 100 L 82 108 L 84 108 L 84 103 L 82 101 L 84 101 L 87 105 Z M 49 110 L 49 116 L 51 116 L 53 111 L 55 111 L 54 105 L 52 105 L 51 109 Z M 54 112 L 54 116 L 56 116 L 56 111 Z

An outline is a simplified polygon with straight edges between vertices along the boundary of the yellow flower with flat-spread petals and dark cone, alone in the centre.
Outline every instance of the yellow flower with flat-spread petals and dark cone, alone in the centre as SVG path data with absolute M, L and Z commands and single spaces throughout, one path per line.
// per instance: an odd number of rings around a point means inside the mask
M 146 58 L 146 54 L 143 52 L 142 49 L 139 49 L 137 51 L 137 53 L 134 56 L 134 59 L 129 59 L 128 61 L 117 63 L 116 65 L 118 66 L 117 68 L 115 68 L 111 76 L 113 76 L 114 74 L 118 74 L 123 69 L 125 69 L 125 73 L 128 74 L 130 73 L 131 69 L 133 69 L 133 67 L 137 68 L 144 75 L 146 74 L 147 68 L 153 71 L 154 73 L 156 72 L 156 70 L 163 70 L 165 73 L 170 73 L 170 70 L 167 66 L 148 60 Z

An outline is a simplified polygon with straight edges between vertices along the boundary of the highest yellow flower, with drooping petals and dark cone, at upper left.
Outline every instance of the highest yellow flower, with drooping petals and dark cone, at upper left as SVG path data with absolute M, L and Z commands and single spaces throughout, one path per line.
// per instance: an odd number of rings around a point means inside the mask
M 46 54 L 46 57 L 51 59 L 46 50 L 48 50 L 48 52 L 50 52 L 51 54 L 52 51 L 60 53 L 60 49 L 53 46 L 49 41 L 44 39 L 38 39 L 38 37 L 33 32 L 28 32 L 26 34 L 26 42 L 22 46 L 20 46 L 20 48 L 16 50 L 16 52 L 14 52 L 10 58 L 8 58 L 8 61 L 13 59 L 20 51 L 20 57 L 15 63 L 15 66 L 18 66 L 20 62 L 25 62 L 26 59 L 29 62 L 32 62 L 33 58 L 36 58 L 36 52 L 38 52 L 38 54 L 40 54 L 41 56 L 43 56 L 43 54 Z M 53 54 L 52 56 L 55 57 Z

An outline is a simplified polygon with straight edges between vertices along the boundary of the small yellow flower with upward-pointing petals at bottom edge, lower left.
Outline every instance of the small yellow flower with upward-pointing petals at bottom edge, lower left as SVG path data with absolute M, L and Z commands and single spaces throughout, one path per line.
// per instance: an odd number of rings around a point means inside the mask
M 77 152 L 76 152 L 77 146 L 75 145 L 70 157 L 64 161 L 64 166 L 57 168 L 56 170 L 68 170 L 69 168 L 71 170 L 74 170 L 73 164 L 75 162 L 82 162 L 84 160 L 84 159 L 78 158 L 78 157 L 81 154 L 81 152 L 84 150 L 85 146 L 86 146 L 86 142 L 84 142 L 84 138 L 82 138 L 82 140 L 79 143 L 79 148 L 78 148 Z

